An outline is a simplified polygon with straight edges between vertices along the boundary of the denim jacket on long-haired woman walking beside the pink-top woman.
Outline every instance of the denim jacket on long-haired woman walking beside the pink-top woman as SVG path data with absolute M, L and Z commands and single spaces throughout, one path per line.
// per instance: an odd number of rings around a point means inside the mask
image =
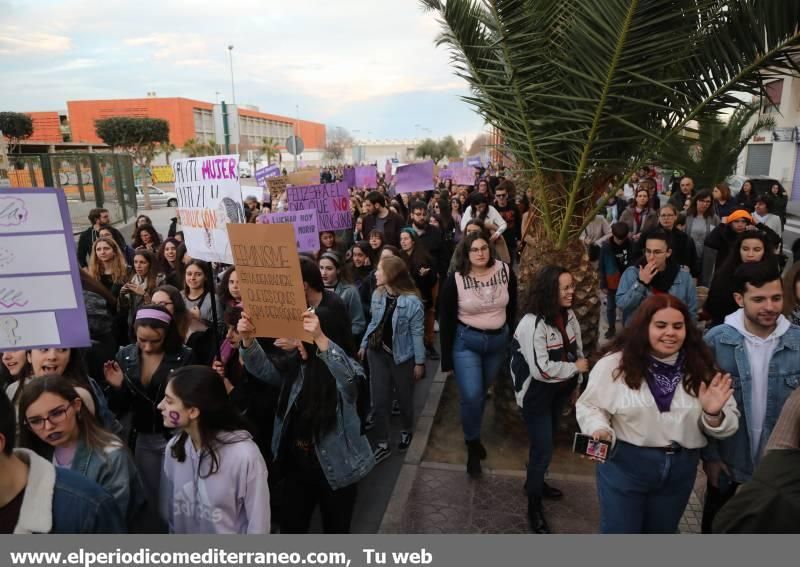
M 367 348 L 367 339 L 378 328 L 386 310 L 386 293 L 376 290 L 372 294 L 372 320 L 361 339 L 361 348 Z M 413 358 L 416 364 L 425 364 L 425 345 L 422 341 L 425 309 L 416 295 L 400 295 L 392 315 L 392 355 L 395 364 Z

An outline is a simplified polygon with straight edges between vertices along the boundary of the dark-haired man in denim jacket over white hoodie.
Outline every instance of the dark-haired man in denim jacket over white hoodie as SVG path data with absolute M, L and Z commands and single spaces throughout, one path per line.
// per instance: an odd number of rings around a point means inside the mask
M 737 486 L 752 477 L 784 402 L 800 385 L 800 327 L 781 315 L 777 266 L 742 264 L 734 274 L 734 299 L 740 309 L 705 337 L 717 364 L 733 378 L 742 416 L 735 435 L 710 439 L 703 452 L 704 533 L 711 533 L 714 516 Z

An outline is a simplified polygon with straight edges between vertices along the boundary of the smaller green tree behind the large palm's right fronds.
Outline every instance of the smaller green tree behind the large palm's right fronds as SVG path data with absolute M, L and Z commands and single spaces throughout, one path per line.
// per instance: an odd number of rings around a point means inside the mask
M 736 171 L 739 154 L 750 138 L 761 130 L 775 128 L 771 116 L 760 116 L 748 128 L 760 109 L 758 102 L 743 104 L 727 123 L 716 116 L 700 118 L 697 128 L 687 129 L 664 145 L 658 161 L 683 171 L 694 180 L 695 187 L 713 188 Z

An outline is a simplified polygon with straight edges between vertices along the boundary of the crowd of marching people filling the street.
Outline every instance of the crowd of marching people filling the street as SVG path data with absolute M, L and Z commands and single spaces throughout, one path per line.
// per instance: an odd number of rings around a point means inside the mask
M 510 375 L 535 533 L 550 532 L 543 499 L 563 497 L 546 479 L 570 406 L 610 446 L 604 533 L 674 533 L 701 462 L 705 532 L 800 529 L 775 523 L 779 497 L 758 499 L 800 451 L 785 194 L 675 189 L 662 205 L 638 172 L 583 233 L 610 341 L 593 352 L 581 326 L 598 322 L 573 311 L 566 267 L 518 298 L 535 212 L 502 167 L 470 186 L 351 188 L 352 229 L 300 258 L 313 342 L 257 338 L 235 266 L 191 258 L 176 222 L 165 238 L 141 215 L 126 240 L 93 210 L 77 248 L 91 347 L 2 356 L 0 533 L 307 533 L 317 509 L 347 533 L 359 484 L 411 446 L 426 360 L 453 374 L 473 478 L 487 392 Z M 248 221 L 284 200 L 248 198 Z

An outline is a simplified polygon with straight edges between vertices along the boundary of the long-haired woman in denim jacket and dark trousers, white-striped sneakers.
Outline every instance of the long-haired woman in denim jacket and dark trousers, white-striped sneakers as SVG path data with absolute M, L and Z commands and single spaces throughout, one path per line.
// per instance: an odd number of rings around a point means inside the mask
M 399 451 L 411 445 L 414 427 L 414 382 L 425 377 L 423 342 L 425 308 L 400 258 L 383 258 L 375 270 L 378 289 L 372 294 L 372 320 L 358 352 L 369 362 L 372 404 L 378 445 L 375 462 L 391 455 L 389 449 L 389 405 L 394 383 L 400 402 L 402 431 Z

